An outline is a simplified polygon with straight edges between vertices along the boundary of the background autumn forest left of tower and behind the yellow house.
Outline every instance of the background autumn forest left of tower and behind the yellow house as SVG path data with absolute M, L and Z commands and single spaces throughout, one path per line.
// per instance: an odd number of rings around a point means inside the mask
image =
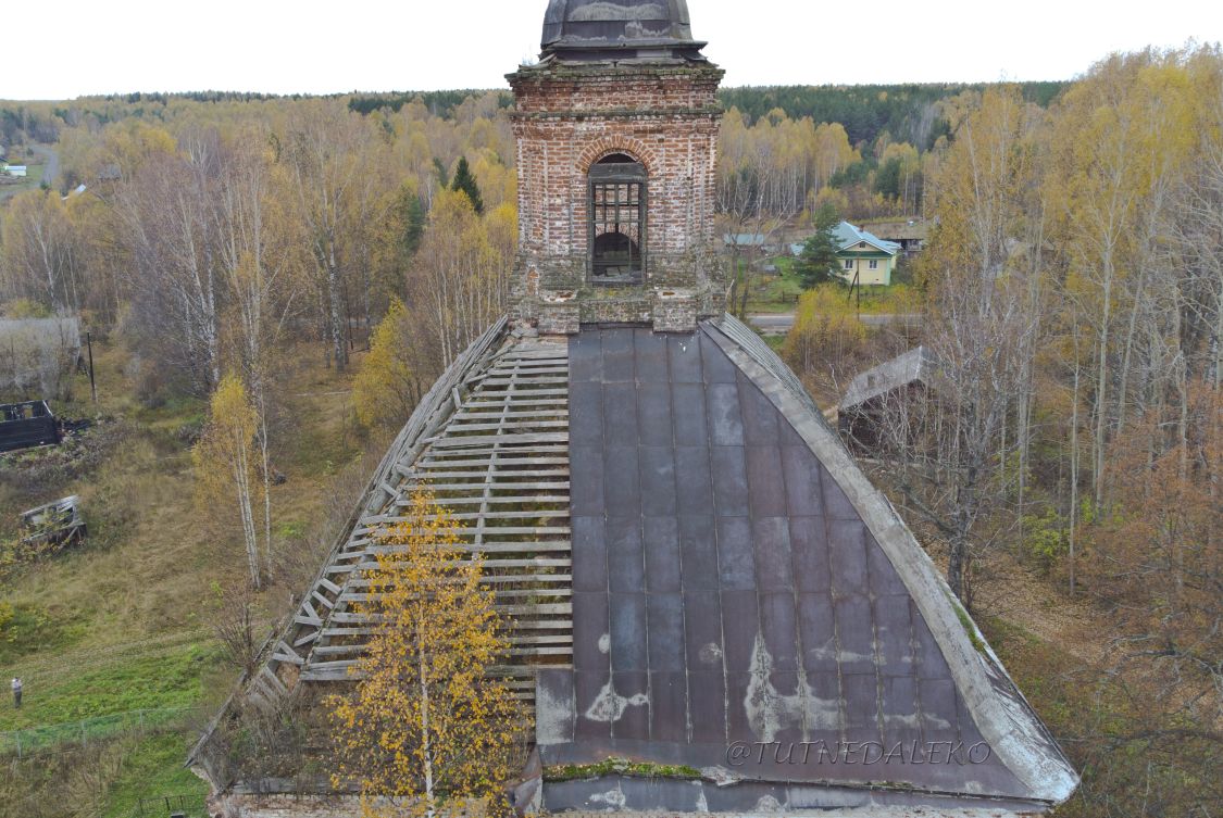
M 922 105 L 956 122 L 978 98 Z M 399 300 L 418 391 L 504 307 L 516 241 L 508 101 L 205 92 L 0 105 L 10 149 L 53 143 L 61 159 L 56 190 L 0 213 L 0 300 L 120 329 L 149 399 L 204 396 L 289 340 L 313 339 L 344 367 Z M 855 144 L 839 122 L 780 109 L 731 108 L 722 142 L 734 232 L 801 224 L 824 202 L 852 216 L 918 212 L 933 155 L 888 132 Z M 450 196 L 460 165 L 471 213 Z

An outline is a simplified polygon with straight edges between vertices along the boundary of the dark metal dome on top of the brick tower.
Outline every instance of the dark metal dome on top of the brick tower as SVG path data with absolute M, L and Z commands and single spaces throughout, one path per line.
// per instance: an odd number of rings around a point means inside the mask
M 566 60 L 702 60 L 686 0 L 550 0 L 543 55 Z

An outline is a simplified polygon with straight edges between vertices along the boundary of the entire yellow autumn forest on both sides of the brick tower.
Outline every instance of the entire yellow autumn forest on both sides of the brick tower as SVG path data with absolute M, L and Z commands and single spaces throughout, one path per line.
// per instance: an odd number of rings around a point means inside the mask
M 109 333 L 148 402 L 213 396 L 210 434 L 240 430 L 240 454 L 218 456 L 243 463 L 232 481 L 248 484 L 238 516 L 258 582 L 275 514 L 258 483 L 285 356 L 309 348 L 345 368 L 368 347 L 357 413 L 400 424 L 505 309 L 515 149 L 503 92 L 198 97 L 0 105 L 0 141 L 56 143 L 64 174 L 0 210 L 0 301 Z M 888 418 L 879 477 L 943 544 L 967 604 L 1005 554 L 1110 622 L 1081 672 L 1040 680 L 1066 708 L 1048 718 L 1085 772 L 1059 814 L 1212 814 L 1218 49 L 1118 55 L 1065 87 L 724 99 L 728 232 L 804 225 L 823 204 L 936 225 L 918 291 L 938 388 Z M 890 351 L 829 292 L 804 298 L 785 355 L 839 390 Z

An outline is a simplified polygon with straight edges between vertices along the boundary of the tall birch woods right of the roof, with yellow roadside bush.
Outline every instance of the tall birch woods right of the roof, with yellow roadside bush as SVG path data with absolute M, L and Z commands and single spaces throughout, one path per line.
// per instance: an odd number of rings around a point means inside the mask
M 1102 611 L 1074 672 L 1032 681 L 1058 691 L 1046 713 L 1085 774 L 1058 814 L 1212 814 L 1223 59 L 1114 56 L 1047 108 L 991 88 L 951 136 L 923 165 L 934 229 L 917 278 L 934 363 L 878 415 L 877 479 L 966 603 L 1020 593 L 1005 576 L 1018 560 Z M 785 351 L 843 389 L 890 355 L 879 344 L 819 290 Z

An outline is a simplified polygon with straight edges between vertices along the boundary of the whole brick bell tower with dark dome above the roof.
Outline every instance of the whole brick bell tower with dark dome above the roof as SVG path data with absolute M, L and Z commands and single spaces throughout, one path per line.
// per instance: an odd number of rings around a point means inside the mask
M 508 76 L 519 166 L 517 324 L 692 331 L 723 314 L 714 254 L 723 71 L 686 0 L 552 0 Z

